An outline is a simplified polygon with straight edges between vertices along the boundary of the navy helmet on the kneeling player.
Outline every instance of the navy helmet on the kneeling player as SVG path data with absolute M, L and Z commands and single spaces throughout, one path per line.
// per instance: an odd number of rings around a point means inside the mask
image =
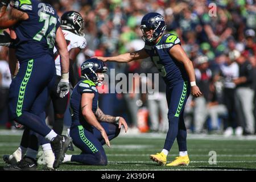
M 97 58 L 88 59 L 81 65 L 81 77 L 93 81 L 96 85 L 98 85 L 97 73 L 105 73 L 106 71 L 108 68 L 104 62 Z

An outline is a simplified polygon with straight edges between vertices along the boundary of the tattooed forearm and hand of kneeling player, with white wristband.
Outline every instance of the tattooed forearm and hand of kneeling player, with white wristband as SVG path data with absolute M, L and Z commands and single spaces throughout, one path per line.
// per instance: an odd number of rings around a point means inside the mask
M 112 115 L 104 114 L 102 112 L 102 110 L 100 109 L 100 107 L 97 108 L 95 115 L 96 115 L 96 118 L 98 119 L 98 121 L 109 122 L 109 123 L 118 122 L 119 129 L 121 129 L 121 126 L 123 125 L 125 127 L 125 132 L 127 132 L 127 130 L 128 130 L 127 123 L 126 123 L 125 119 L 123 119 L 122 117 L 113 117 Z

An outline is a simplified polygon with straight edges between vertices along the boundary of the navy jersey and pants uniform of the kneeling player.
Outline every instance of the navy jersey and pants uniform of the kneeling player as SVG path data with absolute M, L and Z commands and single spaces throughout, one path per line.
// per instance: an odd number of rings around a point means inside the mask
M 82 115 L 81 98 L 83 93 L 93 93 L 92 111 L 98 108 L 98 90 L 94 82 L 80 80 L 71 94 L 72 124 L 70 135 L 76 147 L 82 151 L 80 155 L 72 155 L 71 162 L 80 162 L 87 165 L 106 165 L 108 160 L 104 148 L 104 138 L 95 127 L 89 125 Z M 109 140 L 117 137 L 120 129 L 115 123 L 100 122 L 106 131 Z

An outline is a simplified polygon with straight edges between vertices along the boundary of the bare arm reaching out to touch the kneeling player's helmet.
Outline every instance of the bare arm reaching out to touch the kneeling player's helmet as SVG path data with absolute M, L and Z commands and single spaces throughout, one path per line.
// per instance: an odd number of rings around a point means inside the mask
M 102 61 L 116 61 L 118 63 L 128 63 L 130 61 L 137 60 L 137 59 L 145 59 L 148 57 L 148 54 L 143 48 L 139 51 L 123 53 L 122 55 L 118 55 L 118 56 L 111 56 L 111 57 L 95 56 L 95 57 L 97 57 L 98 59 L 101 59 Z

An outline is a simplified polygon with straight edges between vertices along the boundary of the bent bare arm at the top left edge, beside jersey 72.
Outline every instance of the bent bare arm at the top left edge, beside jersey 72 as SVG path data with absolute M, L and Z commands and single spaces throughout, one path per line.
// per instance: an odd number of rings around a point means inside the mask
M 28 19 L 28 14 L 12 8 L 0 18 L 0 29 L 10 28 L 21 20 Z

